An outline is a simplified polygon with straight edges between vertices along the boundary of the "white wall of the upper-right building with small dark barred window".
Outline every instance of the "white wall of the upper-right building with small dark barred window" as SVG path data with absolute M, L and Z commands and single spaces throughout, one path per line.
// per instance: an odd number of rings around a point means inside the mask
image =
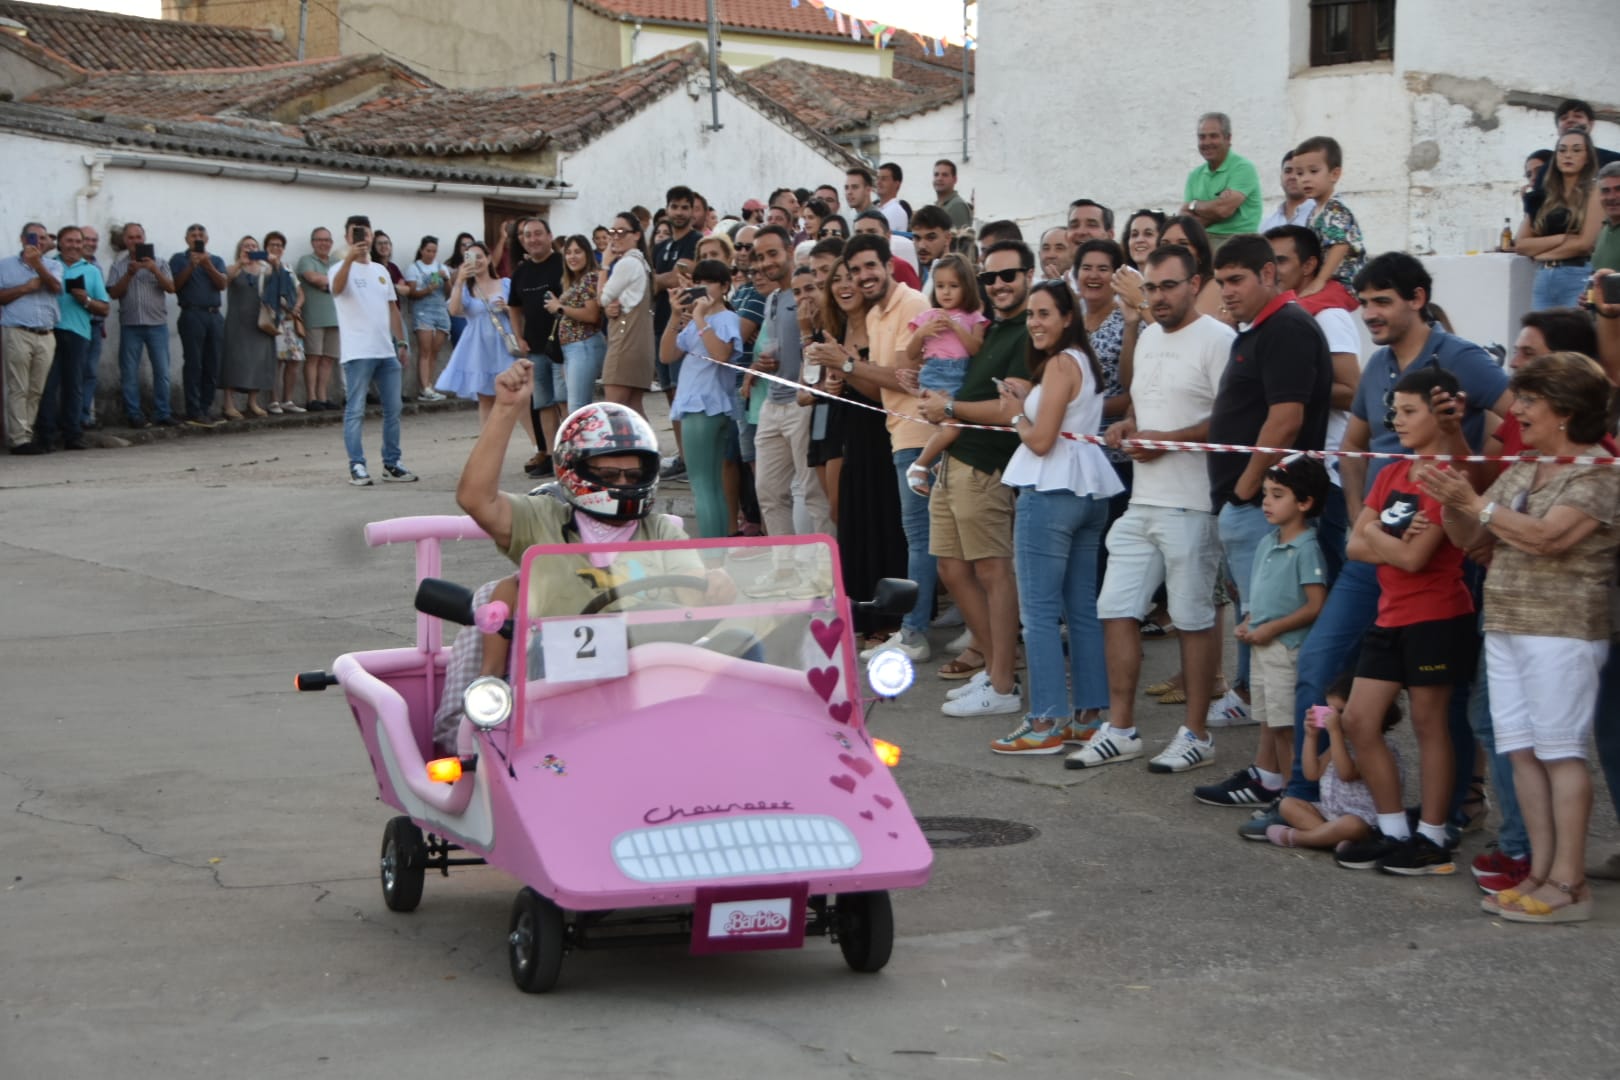
M 1560 5 L 1557 24 L 1571 32 L 1555 63 L 1523 47 L 1545 32 L 1547 11 L 1511 0 L 1403 0 L 1392 63 L 1332 68 L 1306 63 L 1306 0 L 1098 2 L 1084 18 L 1000 0 L 982 19 L 977 215 L 1027 232 L 1081 196 L 1119 214 L 1179 206 L 1200 164 L 1197 117 L 1225 112 L 1268 207 L 1281 198 L 1283 152 L 1332 134 L 1345 147 L 1340 194 L 1374 251 L 1464 253 L 1503 217 L 1518 225 L 1523 160 L 1552 142 L 1552 113 L 1507 105 L 1505 92 L 1620 102 L 1610 0 Z M 1165 42 L 1196 49 L 1155 63 Z M 1085 78 L 1085 57 L 1134 58 L 1140 78 Z M 1620 147 L 1620 125 L 1599 123 L 1594 139 Z

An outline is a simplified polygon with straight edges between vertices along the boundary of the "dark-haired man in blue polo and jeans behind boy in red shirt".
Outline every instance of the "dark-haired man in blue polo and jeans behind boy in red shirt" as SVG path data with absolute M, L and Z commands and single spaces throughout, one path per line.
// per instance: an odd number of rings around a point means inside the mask
M 1356 296 L 1361 300 L 1361 321 L 1380 348 L 1367 359 L 1356 400 L 1351 405 L 1349 427 L 1345 431 L 1343 449 L 1348 452 L 1374 450 L 1401 453 L 1400 436 L 1395 434 L 1393 402 L 1395 384 L 1414 366 L 1435 366 L 1456 376 L 1463 387 L 1463 400 L 1435 400 L 1434 408 L 1447 416 L 1461 416 L 1447 427 L 1458 431 L 1450 453 L 1477 453 L 1486 437 L 1486 410 L 1507 416 L 1511 395 L 1508 376 L 1497 366 L 1490 353 L 1447 334 L 1429 321 L 1432 280 L 1422 262 L 1405 251 L 1390 251 L 1369 261 L 1356 275 Z M 1439 415 L 1439 413 L 1437 413 Z M 1348 520 L 1361 517 L 1361 500 L 1388 458 L 1343 458 L 1340 479 L 1345 491 Z M 1473 473 L 1474 468 L 1469 466 Z M 1471 476 L 1481 491 L 1489 478 Z M 1361 640 L 1372 627 L 1379 612 L 1377 567 L 1366 562 L 1346 562 L 1338 580 L 1327 594 L 1322 614 L 1311 627 L 1311 635 L 1299 648 L 1299 678 L 1294 683 L 1294 767 L 1288 779 L 1286 795 L 1315 800 L 1317 785 L 1304 779 L 1299 769 L 1298 748 L 1304 745 L 1304 716 L 1312 704 L 1320 704 L 1327 687 L 1354 659 Z M 1474 740 L 1468 729 L 1469 687 L 1460 685 L 1452 708 L 1452 746 L 1456 751 L 1458 777 L 1473 776 Z M 1468 793 L 1468 784 L 1456 784 L 1453 803 Z M 1243 826 L 1243 832 L 1262 827 L 1265 818 Z M 1278 821 L 1281 821 L 1278 818 Z

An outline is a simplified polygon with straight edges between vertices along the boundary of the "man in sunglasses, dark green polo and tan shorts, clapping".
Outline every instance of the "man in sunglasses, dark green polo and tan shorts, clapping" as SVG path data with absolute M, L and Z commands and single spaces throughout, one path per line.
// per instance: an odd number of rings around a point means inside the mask
M 1029 379 L 1027 306 L 1035 256 L 1019 240 L 1003 240 L 985 253 L 978 283 L 995 322 L 967 363 L 956 397 L 928 392 L 919 411 L 928 421 L 1004 424 L 998 379 Z M 985 657 L 987 678 L 944 703 L 946 716 L 1021 712 L 1024 698 L 1013 675 L 1017 651 L 1017 581 L 1013 576 L 1013 504 L 1016 491 L 1001 483 L 1019 437 L 1004 431 L 967 429 L 956 436 L 928 497 L 928 554 L 951 589 L 962 620 L 974 631 L 974 651 Z

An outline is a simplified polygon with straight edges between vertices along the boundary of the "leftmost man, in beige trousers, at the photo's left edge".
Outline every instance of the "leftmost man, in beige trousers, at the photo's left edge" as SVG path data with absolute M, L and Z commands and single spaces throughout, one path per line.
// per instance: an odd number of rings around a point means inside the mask
M 11 453 L 47 453 L 34 440 L 34 413 L 57 355 L 57 295 L 62 282 L 45 261 L 45 227 L 23 227 L 21 254 L 0 259 L 0 353 L 5 353 L 6 445 Z

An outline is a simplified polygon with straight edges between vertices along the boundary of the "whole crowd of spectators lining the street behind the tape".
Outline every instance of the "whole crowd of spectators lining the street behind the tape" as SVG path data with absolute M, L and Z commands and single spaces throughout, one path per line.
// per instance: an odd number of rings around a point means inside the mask
M 1231 121 L 1207 113 L 1178 206 L 1116 219 L 1077 198 L 1034 249 L 1014 222 L 980 212 L 974 228 L 949 160 L 915 204 L 889 162 L 735 217 L 674 185 L 590 236 L 514 220 L 489 244 L 455 238 L 444 262 L 423 236 L 405 270 L 364 217 L 337 253 L 314 230 L 290 267 L 280 233 L 243 236 L 227 262 L 194 225 L 159 259 L 125 223 L 105 279 L 94 233 L 29 223 L 0 261 L 6 440 L 84 447 L 112 304 L 128 424 L 343 408 L 355 484 L 371 483 L 368 387 L 382 478 L 415 479 L 399 445 L 407 321 L 420 400 L 476 398 L 484 418 L 497 377 L 531 364 L 530 476 L 551 470 L 567 413 L 598 393 L 643 411 L 658 392 L 676 442 L 663 479 L 690 484 L 697 533 L 831 533 L 852 596 L 914 580 L 910 612 L 860 627 L 863 654 L 927 662 L 951 627 L 941 712 L 1017 716 L 993 753 L 1074 769 L 1145 756 L 1144 641 L 1173 638 L 1181 670 L 1147 691 L 1181 722 L 1150 772 L 1210 766 L 1213 729 L 1257 724 L 1252 759 L 1192 795 L 1252 811 L 1246 839 L 1398 876 L 1455 873 L 1489 787 L 1486 910 L 1573 921 L 1588 878 L 1620 879 L 1620 857 L 1584 857 L 1594 725 L 1620 798 L 1620 471 L 1584 460 L 1614 450 L 1620 165 L 1591 123 L 1567 102 L 1557 146 L 1526 162 L 1513 243 L 1539 264 L 1536 309 L 1507 369 L 1443 324 L 1418 257 L 1375 254 L 1333 138 L 1283 157 L 1267 214 Z M 1481 452 L 1503 461 L 1403 457 Z M 794 594 L 802 573 L 784 559 L 755 589 Z M 1401 719 L 1413 784 L 1390 737 Z

